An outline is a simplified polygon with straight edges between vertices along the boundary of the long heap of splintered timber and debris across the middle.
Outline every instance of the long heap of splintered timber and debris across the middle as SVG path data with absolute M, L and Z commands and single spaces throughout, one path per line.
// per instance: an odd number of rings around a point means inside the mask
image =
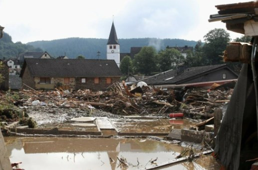
M 140 93 L 137 93 L 137 92 Z M 142 87 L 129 90 L 125 85 L 115 83 L 108 91 L 93 92 L 88 89 L 78 91 L 58 90 L 34 91 L 21 90 L 16 106 L 45 106 L 58 108 L 80 108 L 89 110 L 93 107 L 117 115 L 156 115 L 167 116 L 169 113 L 184 109 L 189 113 L 211 114 L 214 108 L 221 107 L 230 100 L 232 90 L 204 91 L 188 90 L 183 101 L 176 100 L 176 92 Z

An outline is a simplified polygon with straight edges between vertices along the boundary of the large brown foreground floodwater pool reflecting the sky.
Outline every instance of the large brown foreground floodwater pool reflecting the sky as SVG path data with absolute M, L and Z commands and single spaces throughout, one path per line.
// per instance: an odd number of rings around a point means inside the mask
M 138 170 L 151 166 L 149 161 L 156 158 L 157 164 L 174 160 L 183 150 L 180 146 L 146 139 L 5 137 L 4 140 L 10 162 L 22 162 L 19 168 L 25 170 L 120 170 L 117 157 L 131 163 L 129 170 Z M 214 159 L 209 156 L 165 169 L 214 168 Z

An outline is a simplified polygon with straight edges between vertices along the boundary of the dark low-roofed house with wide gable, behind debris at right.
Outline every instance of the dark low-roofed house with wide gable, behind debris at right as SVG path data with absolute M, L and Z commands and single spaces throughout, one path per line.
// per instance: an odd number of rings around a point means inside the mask
M 227 64 L 218 64 L 199 67 L 179 66 L 177 70 L 168 70 L 140 81 L 166 90 L 181 87 L 205 88 L 214 83 L 224 84 L 237 79 L 238 74 Z

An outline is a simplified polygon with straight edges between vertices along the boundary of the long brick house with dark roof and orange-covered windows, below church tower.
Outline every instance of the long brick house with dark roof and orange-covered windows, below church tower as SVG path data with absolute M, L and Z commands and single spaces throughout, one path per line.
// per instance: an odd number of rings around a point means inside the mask
M 114 60 L 94 59 L 25 58 L 20 74 L 26 87 L 76 90 L 104 90 L 121 76 Z

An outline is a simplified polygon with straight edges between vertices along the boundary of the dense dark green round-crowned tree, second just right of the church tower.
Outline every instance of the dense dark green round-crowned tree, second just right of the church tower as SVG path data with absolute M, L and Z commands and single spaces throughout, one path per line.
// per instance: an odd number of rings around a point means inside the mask
M 157 52 L 153 47 L 142 47 L 133 59 L 134 69 L 137 73 L 149 74 L 157 69 Z

